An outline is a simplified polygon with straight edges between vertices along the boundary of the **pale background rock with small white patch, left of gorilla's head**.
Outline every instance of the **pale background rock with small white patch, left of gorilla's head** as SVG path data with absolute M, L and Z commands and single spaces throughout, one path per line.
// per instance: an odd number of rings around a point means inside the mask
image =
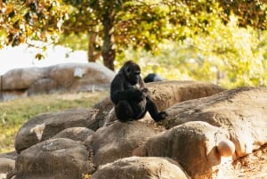
M 79 76 L 77 70 L 81 73 Z M 50 67 L 49 77 L 69 91 L 103 91 L 109 89 L 115 73 L 95 62 L 65 63 Z

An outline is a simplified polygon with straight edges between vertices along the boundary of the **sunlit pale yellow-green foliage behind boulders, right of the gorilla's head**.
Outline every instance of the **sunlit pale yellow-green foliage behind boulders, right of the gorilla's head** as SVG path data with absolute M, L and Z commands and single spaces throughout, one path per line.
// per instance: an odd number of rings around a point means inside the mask
M 239 28 L 236 16 L 182 42 L 166 41 L 157 54 L 128 49 L 120 59 L 133 59 L 143 76 L 156 72 L 166 79 L 210 81 L 227 88 L 267 85 L 267 32 Z M 117 68 L 122 63 L 117 63 Z

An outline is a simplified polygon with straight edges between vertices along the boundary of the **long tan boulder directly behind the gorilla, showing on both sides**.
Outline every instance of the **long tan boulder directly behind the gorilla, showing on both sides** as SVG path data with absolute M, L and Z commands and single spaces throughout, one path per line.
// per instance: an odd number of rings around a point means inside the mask
M 198 81 L 160 81 L 146 85 L 158 110 L 166 110 L 175 103 L 218 94 L 225 90 L 219 85 Z M 113 107 L 110 97 L 94 105 L 93 108 L 99 110 L 96 118 L 101 121 L 102 126 L 117 120 Z

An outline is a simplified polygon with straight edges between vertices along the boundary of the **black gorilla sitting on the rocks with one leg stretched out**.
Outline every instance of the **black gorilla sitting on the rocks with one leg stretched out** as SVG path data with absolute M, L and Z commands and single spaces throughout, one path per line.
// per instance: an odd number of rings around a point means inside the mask
M 110 98 L 115 104 L 117 118 L 122 121 L 138 120 L 147 111 L 155 121 L 166 118 L 165 111 L 158 108 L 150 99 L 150 91 L 145 88 L 141 69 L 134 61 L 126 61 L 110 85 Z

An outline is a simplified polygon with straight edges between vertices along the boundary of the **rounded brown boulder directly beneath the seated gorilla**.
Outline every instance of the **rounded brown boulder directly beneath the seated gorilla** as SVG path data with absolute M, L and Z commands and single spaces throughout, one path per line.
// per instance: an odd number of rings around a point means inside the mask
M 100 166 L 132 156 L 134 149 L 155 134 L 157 133 L 153 128 L 142 122 L 117 121 L 113 125 L 97 130 L 87 143 L 93 149 L 93 163 Z

